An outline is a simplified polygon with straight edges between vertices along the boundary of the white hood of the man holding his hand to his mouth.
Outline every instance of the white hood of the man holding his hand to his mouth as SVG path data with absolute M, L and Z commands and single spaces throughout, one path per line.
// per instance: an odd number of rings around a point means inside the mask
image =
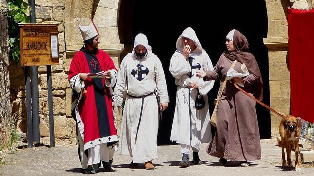
M 178 51 L 183 52 L 182 37 L 186 37 L 186 38 L 189 38 L 190 40 L 194 41 L 196 49 L 193 52 L 202 52 L 203 51 L 202 45 L 200 44 L 200 42 L 199 42 L 199 40 L 195 34 L 195 31 L 191 27 L 186 28 L 183 31 L 183 33 L 180 35 L 180 37 L 177 39 L 176 48 Z

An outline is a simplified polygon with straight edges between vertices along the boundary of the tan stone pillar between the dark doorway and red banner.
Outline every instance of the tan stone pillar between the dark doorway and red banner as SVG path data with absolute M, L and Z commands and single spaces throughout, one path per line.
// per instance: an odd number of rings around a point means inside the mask
M 288 59 L 287 8 L 310 9 L 311 0 L 265 0 L 268 33 L 264 44 L 268 47 L 271 107 L 281 114 L 290 113 L 290 72 Z M 272 136 L 278 136 L 281 118 L 271 113 Z

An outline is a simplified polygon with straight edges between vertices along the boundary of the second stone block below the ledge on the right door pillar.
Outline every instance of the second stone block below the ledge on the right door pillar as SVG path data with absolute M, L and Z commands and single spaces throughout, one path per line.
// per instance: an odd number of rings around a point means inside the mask
M 287 63 L 269 63 L 269 80 L 290 80 Z

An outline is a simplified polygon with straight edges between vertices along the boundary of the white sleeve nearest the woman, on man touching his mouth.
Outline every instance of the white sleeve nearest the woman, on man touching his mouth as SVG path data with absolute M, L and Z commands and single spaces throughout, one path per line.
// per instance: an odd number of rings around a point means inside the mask
M 203 57 L 203 69 L 204 69 L 204 71 L 214 70 L 212 61 L 209 58 L 209 56 L 205 50 L 203 50 L 202 57 Z M 214 82 L 215 82 L 215 80 L 204 81 L 203 78 L 198 79 L 197 83 L 198 83 L 199 93 L 201 95 L 206 95 L 213 88 Z

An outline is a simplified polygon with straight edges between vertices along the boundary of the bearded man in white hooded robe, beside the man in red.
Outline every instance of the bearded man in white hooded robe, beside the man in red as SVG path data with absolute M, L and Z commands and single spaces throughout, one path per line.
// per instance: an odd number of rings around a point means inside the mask
M 145 163 L 146 169 L 154 169 L 158 120 L 169 98 L 161 62 L 144 34 L 135 37 L 133 52 L 122 60 L 115 97 L 117 107 L 125 100 L 118 153 L 133 157 L 130 168 Z

